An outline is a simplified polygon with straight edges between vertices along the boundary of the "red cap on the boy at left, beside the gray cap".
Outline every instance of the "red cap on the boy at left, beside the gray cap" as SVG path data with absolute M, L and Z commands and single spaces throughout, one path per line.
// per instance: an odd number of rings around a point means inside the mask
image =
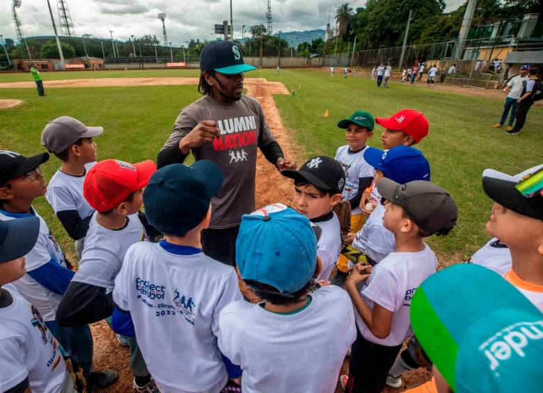
M 151 160 L 134 164 L 112 159 L 100 161 L 88 171 L 83 195 L 96 211 L 111 210 L 134 191 L 143 189 L 156 170 Z

